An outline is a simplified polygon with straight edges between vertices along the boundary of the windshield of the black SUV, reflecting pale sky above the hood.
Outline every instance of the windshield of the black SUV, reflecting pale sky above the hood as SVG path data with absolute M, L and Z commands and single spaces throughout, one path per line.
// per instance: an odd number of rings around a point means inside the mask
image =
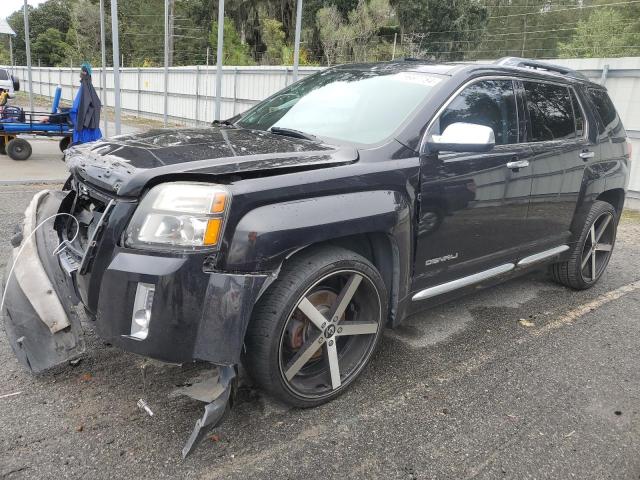
M 377 143 L 391 136 L 443 78 L 422 72 L 324 70 L 259 103 L 237 125 Z

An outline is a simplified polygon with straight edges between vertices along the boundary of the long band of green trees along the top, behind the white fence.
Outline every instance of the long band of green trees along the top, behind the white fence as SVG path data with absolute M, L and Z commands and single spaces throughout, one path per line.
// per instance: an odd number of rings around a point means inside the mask
M 390 3 L 389 3 L 390 2 Z M 297 0 L 226 0 L 224 62 L 291 64 Z M 47 0 L 29 8 L 34 64 L 100 64 L 99 0 Z M 170 0 L 170 64 L 215 61 L 218 0 Z M 501 56 L 618 56 L 640 53 L 640 3 L 617 0 L 305 0 L 301 64 L 438 61 Z M 105 0 L 111 63 L 110 0 Z M 10 13 L 10 12 L 5 12 Z M 118 2 L 122 64 L 164 63 L 164 0 Z M 25 64 L 22 9 L 16 64 Z M 0 62 L 8 62 L 8 37 Z

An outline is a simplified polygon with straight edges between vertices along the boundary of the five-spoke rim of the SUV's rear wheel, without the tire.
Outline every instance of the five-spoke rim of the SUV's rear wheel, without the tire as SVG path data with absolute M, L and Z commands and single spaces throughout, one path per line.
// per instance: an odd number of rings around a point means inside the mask
M 610 212 L 603 213 L 591 224 L 584 246 L 580 270 L 582 278 L 595 282 L 609 263 L 615 238 L 615 221 Z

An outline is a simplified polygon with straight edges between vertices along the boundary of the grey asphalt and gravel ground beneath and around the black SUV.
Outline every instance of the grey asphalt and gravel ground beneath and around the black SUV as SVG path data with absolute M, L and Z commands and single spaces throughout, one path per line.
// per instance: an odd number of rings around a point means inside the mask
M 0 267 L 37 187 L 0 187 Z M 415 315 L 330 404 L 289 409 L 245 381 L 187 460 L 201 404 L 161 366 L 89 334 L 33 377 L 0 335 L 0 478 L 640 478 L 640 216 L 586 292 L 528 275 Z M 525 321 L 523 321 L 525 320 Z M 155 415 L 136 407 L 144 398 Z

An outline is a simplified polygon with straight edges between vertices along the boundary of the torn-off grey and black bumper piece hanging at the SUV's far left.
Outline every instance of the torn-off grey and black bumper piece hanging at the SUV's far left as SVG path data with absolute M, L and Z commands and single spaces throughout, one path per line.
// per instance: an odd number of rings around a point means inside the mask
M 59 244 L 54 220 L 31 235 L 40 222 L 58 213 L 64 197 L 63 192 L 47 190 L 34 196 L 5 274 L 2 313 L 7 337 L 19 362 L 34 373 L 65 363 L 85 350 L 80 319 L 73 308 L 77 300 L 53 255 Z M 13 275 L 8 278 L 14 262 Z

